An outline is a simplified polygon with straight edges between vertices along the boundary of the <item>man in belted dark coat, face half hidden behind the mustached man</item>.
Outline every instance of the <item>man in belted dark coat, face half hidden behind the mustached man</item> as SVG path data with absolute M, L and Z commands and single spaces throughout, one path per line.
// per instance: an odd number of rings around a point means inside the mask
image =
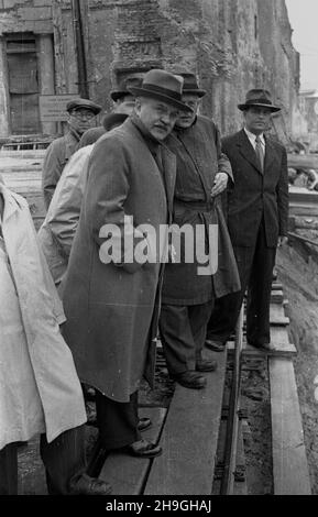
M 232 178 L 231 166 L 221 153 L 216 124 L 197 114 L 205 91 L 194 74 L 183 77 L 183 101 L 194 112 L 180 113 L 166 140 L 177 156 L 174 223 L 180 228 L 189 226 L 195 234 L 198 227 L 204 229 L 199 239 L 201 251 L 215 255 L 218 264 L 216 271 L 200 275 L 198 246 L 194 261 L 188 263 L 187 242 L 182 241 L 180 253 L 175 250 L 176 262 L 165 267 L 160 330 L 169 374 L 183 386 L 199 389 L 206 385 L 201 372 L 217 367 L 215 361 L 201 358 L 213 300 L 238 290 L 240 284 L 220 196 Z M 213 242 L 208 238 L 211 226 L 218 232 Z M 199 244 L 197 237 L 195 242 Z

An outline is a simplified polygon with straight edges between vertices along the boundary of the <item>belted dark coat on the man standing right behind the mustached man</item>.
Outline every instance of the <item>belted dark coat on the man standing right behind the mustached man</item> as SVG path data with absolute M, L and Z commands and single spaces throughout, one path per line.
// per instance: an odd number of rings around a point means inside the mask
M 166 145 L 177 156 L 177 177 L 174 197 L 175 224 L 215 224 L 218 240 L 206 253 L 218 255 L 213 275 L 198 275 L 198 261 L 186 263 L 182 250 L 179 263 L 167 264 L 164 274 L 163 302 L 167 305 L 200 305 L 215 296 L 222 297 L 240 289 L 240 279 L 222 211 L 221 197 L 211 200 L 216 175 L 227 173 L 232 178 L 228 157 L 221 152 L 218 128 L 207 117 L 197 117 L 186 130 L 174 130 Z M 206 232 L 206 235 L 207 235 Z M 183 245 L 183 244 L 182 244 Z

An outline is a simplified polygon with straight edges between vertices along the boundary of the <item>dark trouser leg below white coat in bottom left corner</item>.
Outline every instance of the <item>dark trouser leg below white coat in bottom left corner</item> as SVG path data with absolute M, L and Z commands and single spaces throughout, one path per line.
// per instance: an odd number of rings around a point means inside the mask
M 17 443 L 10 443 L 0 451 L 0 495 L 18 495 Z

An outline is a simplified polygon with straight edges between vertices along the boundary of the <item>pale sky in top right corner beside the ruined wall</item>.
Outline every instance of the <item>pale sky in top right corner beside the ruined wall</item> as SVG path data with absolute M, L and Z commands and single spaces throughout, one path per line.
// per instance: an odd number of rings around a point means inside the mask
M 300 53 L 300 88 L 318 89 L 318 0 L 285 1 L 294 29 L 293 44 Z

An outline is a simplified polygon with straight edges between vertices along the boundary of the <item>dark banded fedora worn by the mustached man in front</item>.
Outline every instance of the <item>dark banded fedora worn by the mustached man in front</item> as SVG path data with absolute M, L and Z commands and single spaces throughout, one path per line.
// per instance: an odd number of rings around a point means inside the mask
M 183 77 L 155 68 L 145 74 L 140 88 L 131 87 L 129 91 L 134 97 L 152 97 L 172 105 L 180 111 L 193 113 L 191 108 L 182 101 L 183 82 Z

